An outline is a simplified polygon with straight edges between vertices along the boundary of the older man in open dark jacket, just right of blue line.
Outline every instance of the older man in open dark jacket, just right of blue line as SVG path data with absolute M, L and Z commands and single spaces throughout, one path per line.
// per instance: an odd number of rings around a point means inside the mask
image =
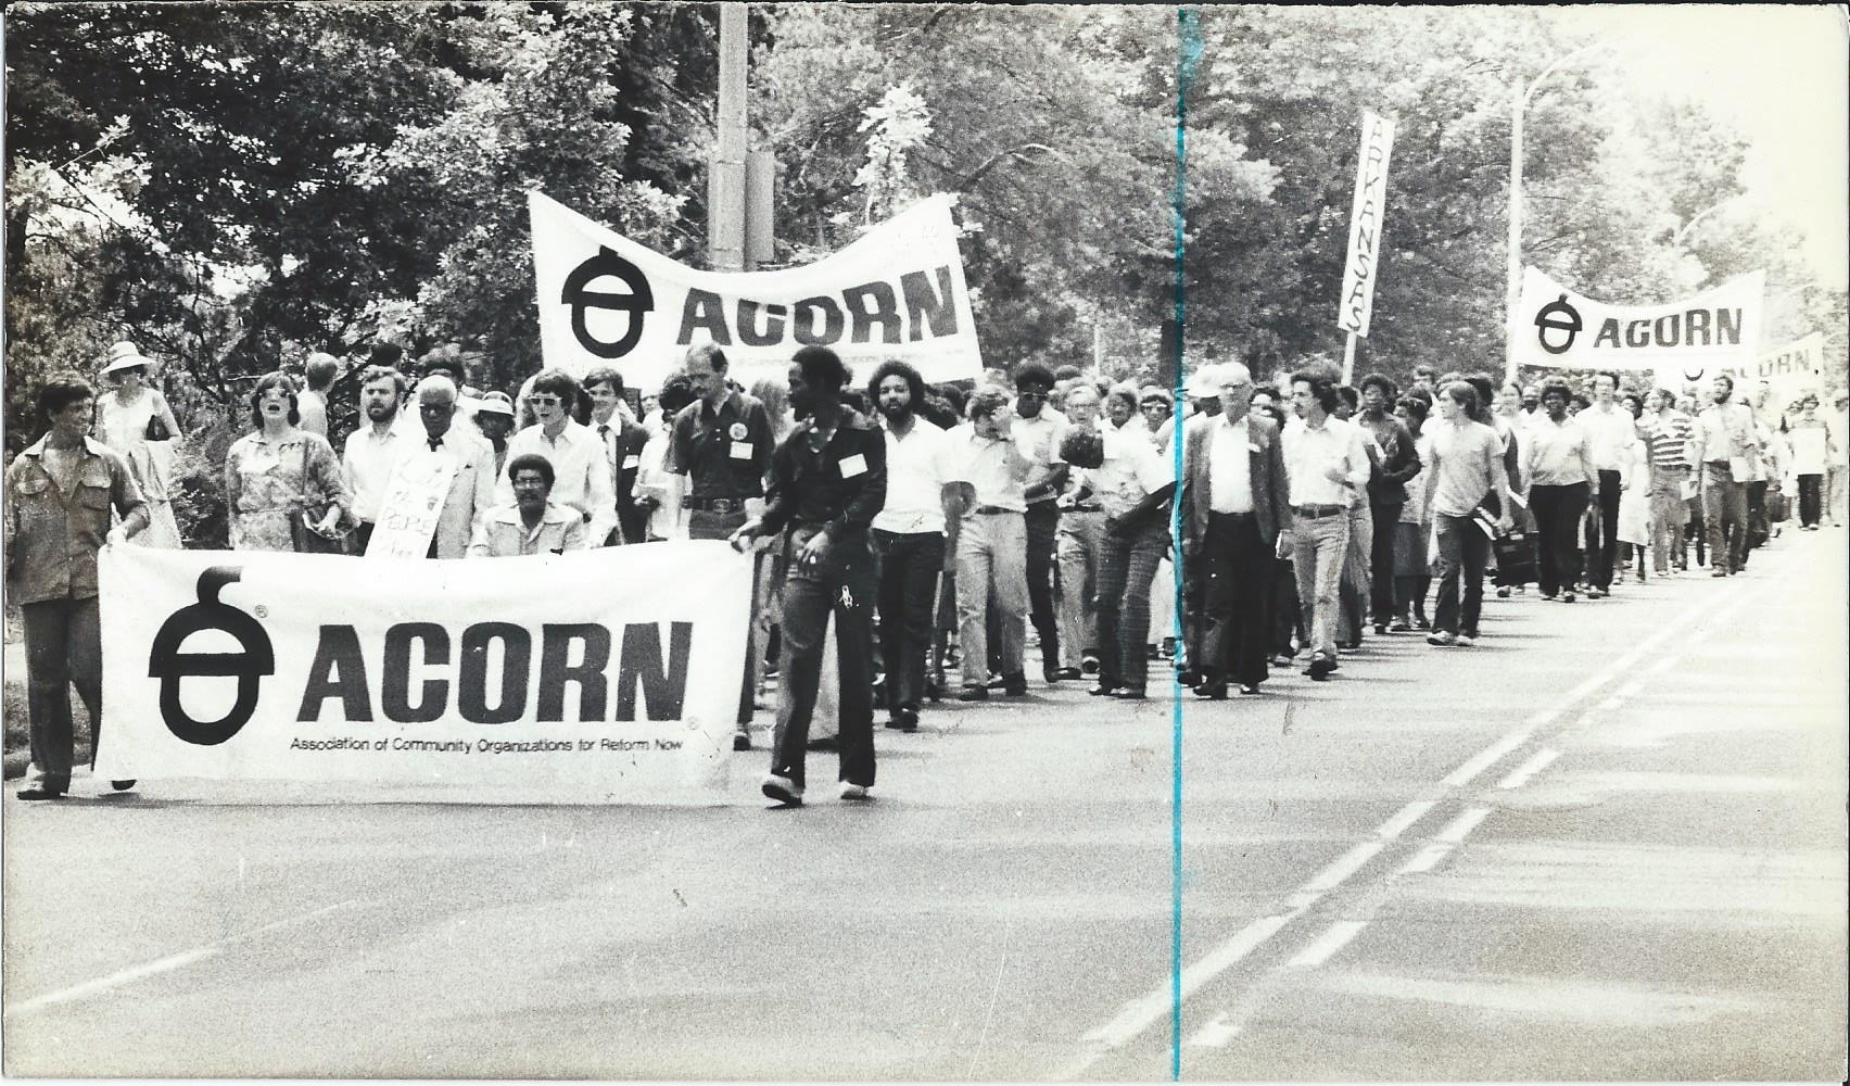
M 1271 598 L 1278 533 L 1291 527 L 1278 426 L 1251 411 L 1252 374 L 1215 366 L 1221 414 L 1188 429 L 1182 448 L 1182 549 L 1202 585 L 1195 694 L 1227 697 L 1227 683 L 1258 694 L 1269 675 Z

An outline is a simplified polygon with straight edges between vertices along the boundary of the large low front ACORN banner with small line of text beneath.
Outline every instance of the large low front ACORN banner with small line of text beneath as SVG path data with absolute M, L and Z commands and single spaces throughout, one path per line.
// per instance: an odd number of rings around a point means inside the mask
M 744 668 L 751 596 L 725 544 L 364 570 L 105 548 L 104 701 L 133 710 L 96 771 L 616 801 L 725 784 L 738 685 L 703 679 Z

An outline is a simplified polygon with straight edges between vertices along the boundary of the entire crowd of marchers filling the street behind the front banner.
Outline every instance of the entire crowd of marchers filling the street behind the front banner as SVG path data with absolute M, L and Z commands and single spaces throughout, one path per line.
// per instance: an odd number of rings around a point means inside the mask
M 154 364 L 118 342 L 107 390 L 46 379 L 44 437 L 7 468 L 22 799 L 70 788 L 68 686 L 100 731 L 100 548 L 181 546 L 170 463 L 187 435 Z M 1498 387 L 1419 366 L 1400 389 L 1384 374 L 1349 387 L 1317 359 L 1269 381 L 1212 363 L 1173 403 L 1040 363 L 966 389 L 888 361 L 857 387 L 821 346 L 751 390 L 722 348 L 694 346 L 635 400 L 609 366 L 548 368 L 514 396 L 464 368 L 374 348 L 339 450 L 339 359 L 257 379 L 226 455 L 229 546 L 363 555 L 411 457 L 453 466 L 429 559 L 729 540 L 757 570 L 733 746 L 751 749 L 777 675 L 762 790 L 781 805 L 803 803 L 805 755 L 829 742 L 840 796 L 866 799 L 877 712 L 914 733 L 932 703 L 1023 697 L 1030 657 L 1042 683 L 1095 697 L 1147 699 L 1153 660 L 1202 701 L 1260 696 L 1275 670 L 1330 681 L 1363 636 L 1471 648 L 1486 590 L 1576 603 L 1741 574 L 1783 522 L 1841 527 L 1846 501 L 1850 394 L 1822 411 L 1728 376 Z M 827 723 L 836 736 L 814 738 Z

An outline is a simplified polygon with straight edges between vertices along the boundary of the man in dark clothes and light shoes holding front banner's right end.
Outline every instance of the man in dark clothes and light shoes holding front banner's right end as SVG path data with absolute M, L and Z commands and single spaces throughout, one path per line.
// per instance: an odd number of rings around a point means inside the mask
M 868 416 L 842 405 L 847 366 L 829 348 L 807 346 L 790 364 L 790 405 L 807 416 L 771 457 L 764 516 L 733 533 L 733 546 L 788 531 L 790 572 L 783 588 L 783 685 L 764 794 L 803 805 L 803 755 L 823 631 L 834 612 L 840 653 L 842 799 L 866 799 L 873 786 L 873 514 L 886 503 L 886 437 Z

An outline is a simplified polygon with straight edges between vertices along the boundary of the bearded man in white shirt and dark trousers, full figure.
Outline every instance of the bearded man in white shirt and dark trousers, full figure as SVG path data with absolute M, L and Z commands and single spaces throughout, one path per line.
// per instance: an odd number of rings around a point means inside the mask
M 947 440 L 944 429 L 919 416 L 925 381 L 906 363 L 881 363 L 868 381 L 868 398 L 881 413 L 886 433 L 886 505 L 873 518 L 886 727 L 918 731 L 925 653 L 931 649 L 938 577 L 944 572 Z

